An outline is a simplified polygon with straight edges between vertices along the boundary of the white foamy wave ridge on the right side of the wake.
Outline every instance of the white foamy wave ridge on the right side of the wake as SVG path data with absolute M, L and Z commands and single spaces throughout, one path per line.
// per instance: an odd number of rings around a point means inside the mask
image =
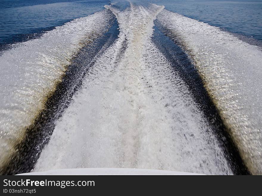
M 261 48 L 168 10 L 157 20 L 195 61 L 244 163 L 262 174 Z

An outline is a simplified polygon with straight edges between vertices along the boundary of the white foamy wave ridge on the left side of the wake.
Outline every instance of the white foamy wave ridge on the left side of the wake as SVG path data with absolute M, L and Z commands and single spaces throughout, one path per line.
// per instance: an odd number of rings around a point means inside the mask
M 39 39 L 13 45 L 0 56 L 0 167 L 13 153 L 60 81 L 70 59 L 102 35 L 112 18 L 107 10 L 58 26 Z

